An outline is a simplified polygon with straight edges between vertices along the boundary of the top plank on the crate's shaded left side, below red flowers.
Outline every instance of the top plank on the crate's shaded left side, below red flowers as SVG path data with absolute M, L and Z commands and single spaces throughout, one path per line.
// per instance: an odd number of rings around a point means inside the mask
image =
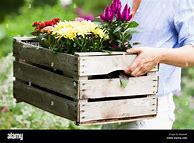
M 66 76 L 77 75 L 78 59 L 70 54 L 53 53 L 49 49 L 16 40 L 13 42 L 13 55 L 35 64 L 62 70 Z

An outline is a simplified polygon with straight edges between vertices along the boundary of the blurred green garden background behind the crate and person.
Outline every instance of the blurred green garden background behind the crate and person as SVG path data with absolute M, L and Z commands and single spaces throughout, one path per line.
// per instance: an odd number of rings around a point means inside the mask
M 66 3 L 65 3 L 66 2 Z M 69 4 L 67 2 L 70 2 Z M 1 0 L 0 1 L 0 129 L 99 129 L 76 126 L 73 122 L 44 112 L 26 103 L 15 103 L 12 95 L 12 37 L 30 36 L 34 21 L 59 17 L 72 20 L 77 7 L 85 15 L 98 16 L 111 0 Z M 174 97 L 174 129 L 194 129 L 194 69 L 182 73 L 182 93 Z

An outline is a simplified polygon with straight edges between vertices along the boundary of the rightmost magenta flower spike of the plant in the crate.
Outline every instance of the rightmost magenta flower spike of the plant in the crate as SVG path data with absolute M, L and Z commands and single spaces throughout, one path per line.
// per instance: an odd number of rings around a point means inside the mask
M 130 12 L 130 7 L 128 6 L 128 4 L 126 4 L 123 11 L 118 14 L 117 19 L 121 21 L 130 21 L 131 18 L 132 14 Z

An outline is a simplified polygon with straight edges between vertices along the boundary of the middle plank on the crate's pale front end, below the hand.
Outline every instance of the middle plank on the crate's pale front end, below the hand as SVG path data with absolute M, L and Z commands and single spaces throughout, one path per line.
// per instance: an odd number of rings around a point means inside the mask
M 126 97 L 156 94 L 158 79 L 156 72 L 140 77 L 129 77 L 126 88 L 121 87 L 120 79 L 81 80 L 80 99 Z

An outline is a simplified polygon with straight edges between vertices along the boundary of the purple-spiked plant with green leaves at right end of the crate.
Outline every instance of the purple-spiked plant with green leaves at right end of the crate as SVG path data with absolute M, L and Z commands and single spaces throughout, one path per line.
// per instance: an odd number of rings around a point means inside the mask
M 138 43 L 131 43 L 138 23 L 131 21 L 132 13 L 128 4 L 122 10 L 120 0 L 113 0 L 100 15 L 103 27 L 109 35 L 111 50 L 124 51 Z

